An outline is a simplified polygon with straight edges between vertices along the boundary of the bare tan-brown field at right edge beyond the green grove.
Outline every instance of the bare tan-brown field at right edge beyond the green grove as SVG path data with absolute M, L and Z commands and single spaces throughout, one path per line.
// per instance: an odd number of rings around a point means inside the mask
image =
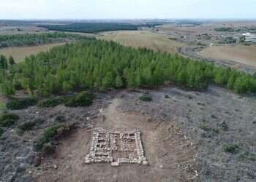
M 207 58 L 233 60 L 249 66 L 256 66 L 256 46 L 208 47 L 198 53 Z

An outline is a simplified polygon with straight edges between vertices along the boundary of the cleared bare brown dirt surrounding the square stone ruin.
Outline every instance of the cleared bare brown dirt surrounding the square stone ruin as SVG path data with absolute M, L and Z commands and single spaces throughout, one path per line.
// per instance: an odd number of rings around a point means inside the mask
M 195 173 L 189 167 L 195 152 L 184 135 L 170 122 L 151 121 L 151 116 L 122 111 L 125 100 L 118 96 L 111 101 L 108 108 L 100 109 L 102 116 L 91 120 L 93 128 L 80 128 L 61 141 L 56 154 L 34 172 L 36 181 L 191 181 Z M 139 128 L 148 165 L 83 165 L 95 127 L 120 131 Z

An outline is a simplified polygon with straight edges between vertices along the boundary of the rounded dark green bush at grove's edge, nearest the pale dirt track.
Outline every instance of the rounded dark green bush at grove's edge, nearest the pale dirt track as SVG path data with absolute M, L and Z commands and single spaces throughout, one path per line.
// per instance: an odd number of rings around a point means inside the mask
M 94 95 L 90 92 L 83 91 L 75 95 L 65 103 L 67 107 L 90 106 L 94 100 Z

